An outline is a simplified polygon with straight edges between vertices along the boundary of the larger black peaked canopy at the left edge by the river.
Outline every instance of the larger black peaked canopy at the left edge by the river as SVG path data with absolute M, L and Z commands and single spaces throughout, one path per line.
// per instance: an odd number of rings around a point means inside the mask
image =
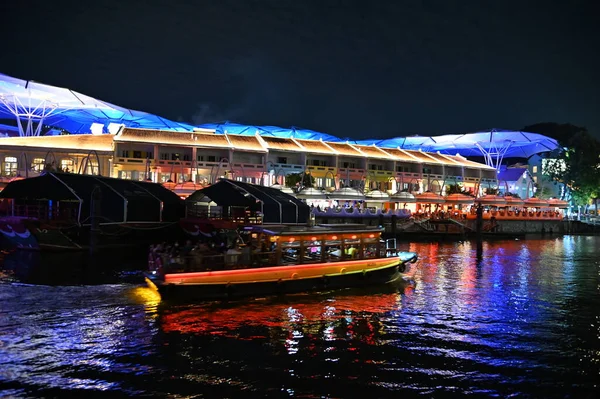
M 89 224 L 92 192 L 101 190 L 101 223 L 175 222 L 185 216 L 185 203 L 160 184 L 75 173 L 45 173 L 15 180 L 0 198 L 21 201 L 78 202 L 78 222 Z

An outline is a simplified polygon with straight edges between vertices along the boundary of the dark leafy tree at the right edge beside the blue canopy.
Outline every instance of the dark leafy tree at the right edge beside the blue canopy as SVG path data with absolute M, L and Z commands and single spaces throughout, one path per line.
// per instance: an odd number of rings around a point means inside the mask
M 556 139 L 560 149 L 549 154 L 543 173 L 565 184 L 575 204 L 588 205 L 600 195 L 600 142 L 586 128 L 571 124 L 538 123 L 524 131 Z

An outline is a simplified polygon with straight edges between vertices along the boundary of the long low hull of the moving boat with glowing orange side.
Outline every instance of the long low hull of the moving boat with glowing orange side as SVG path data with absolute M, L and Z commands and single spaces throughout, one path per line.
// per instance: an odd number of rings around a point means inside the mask
M 229 272 L 237 273 L 229 275 L 224 272 L 206 272 L 201 273 L 205 276 L 201 276 L 197 273 L 198 277 L 193 282 L 179 279 L 178 274 L 166 275 L 164 279 L 160 279 L 148 273 L 146 281 L 150 287 L 160 293 L 164 300 L 227 300 L 390 283 L 400 278 L 412 278 L 415 261 L 416 255 L 415 258 L 410 259 L 410 262 L 400 259 L 390 262 L 390 259 L 387 259 L 387 262 L 378 262 L 381 264 L 374 265 L 375 262 L 371 262 L 370 267 L 365 262 L 362 262 L 362 266 L 357 263 L 356 267 L 335 264 L 328 264 L 325 267 L 315 265 L 314 270 L 298 270 L 298 267 L 294 266 L 275 267 L 270 268 L 275 270 L 264 271 L 271 278 L 262 281 L 260 275 L 263 271 L 260 269 L 232 270 Z M 331 273 L 331 265 L 335 265 L 338 269 L 337 273 Z M 282 272 L 281 268 L 288 268 L 289 271 Z M 286 275 L 282 276 L 281 273 Z M 169 277 L 172 277 L 170 281 Z M 208 282 L 202 283 L 202 280 Z

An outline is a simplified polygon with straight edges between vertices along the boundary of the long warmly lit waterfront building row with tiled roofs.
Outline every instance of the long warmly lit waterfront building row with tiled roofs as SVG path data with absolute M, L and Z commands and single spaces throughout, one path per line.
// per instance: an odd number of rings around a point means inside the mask
M 354 187 L 443 193 L 460 184 L 476 194 L 497 186 L 493 167 L 456 155 L 374 145 L 272 136 L 134 129 L 116 134 L 0 138 L 1 182 L 45 169 L 151 180 L 191 192 L 221 177 L 248 183 L 285 184 L 286 176 L 310 175 L 316 187 Z

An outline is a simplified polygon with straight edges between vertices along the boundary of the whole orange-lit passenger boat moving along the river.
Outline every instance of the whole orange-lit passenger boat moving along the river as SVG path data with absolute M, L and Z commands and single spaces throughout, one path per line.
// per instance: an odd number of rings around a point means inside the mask
M 253 226 L 239 253 L 191 253 L 146 273 L 163 299 L 227 299 L 411 279 L 417 254 L 360 224 Z

